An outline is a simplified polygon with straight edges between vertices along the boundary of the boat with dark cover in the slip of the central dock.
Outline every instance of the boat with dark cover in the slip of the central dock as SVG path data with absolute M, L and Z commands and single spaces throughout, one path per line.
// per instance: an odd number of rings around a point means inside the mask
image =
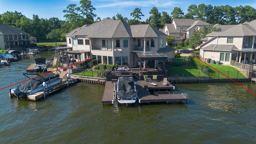
M 114 86 L 117 101 L 120 104 L 134 104 L 138 99 L 138 91 L 133 77 L 119 77 Z

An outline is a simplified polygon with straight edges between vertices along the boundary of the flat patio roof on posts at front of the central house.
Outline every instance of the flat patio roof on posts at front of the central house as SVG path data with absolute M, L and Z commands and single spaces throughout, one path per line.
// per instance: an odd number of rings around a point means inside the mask
M 156 52 L 148 52 L 148 53 L 141 53 L 141 52 L 134 52 L 137 54 L 140 60 L 163 60 L 168 58 L 168 56 L 164 53 L 156 53 Z

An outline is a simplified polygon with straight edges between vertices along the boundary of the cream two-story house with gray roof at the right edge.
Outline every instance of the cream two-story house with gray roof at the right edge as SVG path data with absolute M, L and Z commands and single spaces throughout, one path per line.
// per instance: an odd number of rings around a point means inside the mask
M 232 61 L 244 64 L 256 59 L 256 20 L 222 27 L 220 32 L 207 34 L 208 40 L 198 46 L 202 60 L 210 58 L 222 64 Z

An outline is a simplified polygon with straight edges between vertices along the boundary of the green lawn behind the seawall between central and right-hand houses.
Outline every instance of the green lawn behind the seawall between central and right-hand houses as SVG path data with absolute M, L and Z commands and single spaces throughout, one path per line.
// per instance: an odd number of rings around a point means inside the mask
M 246 78 L 240 71 L 232 66 L 218 65 L 218 64 L 209 64 L 216 70 L 222 72 L 229 78 Z M 195 66 L 179 66 L 173 67 L 170 76 L 210 76 L 210 78 L 227 78 L 221 73 L 217 72 L 213 68 L 208 66 L 209 71 L 203 73 L 199 71 Z

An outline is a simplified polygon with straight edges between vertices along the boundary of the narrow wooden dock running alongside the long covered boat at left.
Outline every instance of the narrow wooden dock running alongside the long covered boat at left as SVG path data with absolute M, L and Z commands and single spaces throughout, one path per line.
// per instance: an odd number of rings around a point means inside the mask
M 30 101 L 38 101 L 42 98 L 45 98 L 46 96 L 54 93 L 54 92 L 58 92 L 59 90 L 62 90 L 63 88 L 66 88 L 68 86 L 71 86 L 72 84 L 75 84 L 78 82 L 78 79 L 71 79 L 68 81 L 68 83 L 66 82 L 66 80 L 63 79 L 62 82 L 60 82 L 59 84 L 56 84 L 54 86 L 50 86 L 48 87 L 48 90 L 45 91 L 45 92 L 36 92 L 35 94 L 31 94 L 31 95 L 28 95 L 27 96 L 27 99 L 30 100 Z M 10 97 L 15 97 L 16 96 L 12 93 L 12 94 L 9 94 Z

